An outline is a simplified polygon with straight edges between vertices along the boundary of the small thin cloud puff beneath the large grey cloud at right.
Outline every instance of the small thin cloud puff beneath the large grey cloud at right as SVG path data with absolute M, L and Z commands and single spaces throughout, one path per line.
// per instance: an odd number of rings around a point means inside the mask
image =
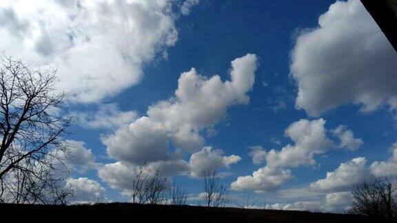
M 345 125 L 339 125 L 336 129 L 332 129 L 331 131 L 332 134 L 340 140 L 340 144 L 338 145 L 339 148 L 346 148 L 354 151 L 364 144 L 363 140 L 360 138 L 354 138 L 353 131 L 347 129 Z

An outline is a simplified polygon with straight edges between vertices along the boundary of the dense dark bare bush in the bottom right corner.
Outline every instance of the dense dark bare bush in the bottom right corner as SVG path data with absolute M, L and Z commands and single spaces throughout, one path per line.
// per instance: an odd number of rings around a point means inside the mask
M 389 177 L 369 178 L 352 189 L 349 213 L 395 219 L 397 217 L 397 184 Z

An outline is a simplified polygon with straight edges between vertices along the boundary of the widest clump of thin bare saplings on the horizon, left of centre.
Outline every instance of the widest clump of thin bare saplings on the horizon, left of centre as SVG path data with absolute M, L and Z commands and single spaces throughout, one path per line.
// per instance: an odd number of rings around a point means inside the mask
M 132 202 L 159 204 L 165 199 L 167 178 L 159 170 L 154 171 L 146 164 L 132 168 Z

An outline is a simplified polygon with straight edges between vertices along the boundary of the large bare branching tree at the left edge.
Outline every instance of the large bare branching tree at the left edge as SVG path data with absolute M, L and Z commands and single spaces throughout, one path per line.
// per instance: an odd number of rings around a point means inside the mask
M 70 194 L 53 175 L 71 121 L 57 83 L 56 70 L 0 58 L 0 201 L 59 204 Z

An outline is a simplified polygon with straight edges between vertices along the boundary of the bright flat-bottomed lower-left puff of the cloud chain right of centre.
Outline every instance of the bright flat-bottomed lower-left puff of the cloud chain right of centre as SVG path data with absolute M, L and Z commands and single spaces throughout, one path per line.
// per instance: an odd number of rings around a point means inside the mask
M 263 167 L 254 171 L 252 176 L 240 176 L 232 182 L 231 187 L 236 191 L 276 191 L 281 184 L 292 178 L 291 171 L 281 168 Z

